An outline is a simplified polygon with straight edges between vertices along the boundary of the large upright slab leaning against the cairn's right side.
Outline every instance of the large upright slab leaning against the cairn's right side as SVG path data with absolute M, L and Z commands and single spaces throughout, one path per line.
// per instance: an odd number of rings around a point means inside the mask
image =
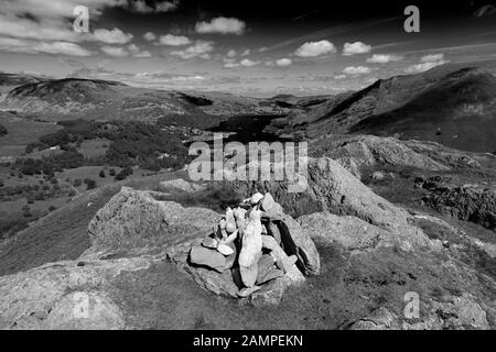
M 321 257 L 306 231 L 290 216 L 279 223 L 281 242 L 288 255 L 296 255 L 298 267 L 305 275 L 319 275 Z

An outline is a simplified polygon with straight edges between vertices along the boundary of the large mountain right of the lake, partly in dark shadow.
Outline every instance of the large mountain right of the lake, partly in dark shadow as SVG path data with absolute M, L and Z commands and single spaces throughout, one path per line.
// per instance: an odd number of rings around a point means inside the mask
M 444 65 L 425 73 L 379 79 L 359 91 L 276 120 L 268 131 L 395 135 L 451 147 L 496 150 L 496 78 L 489 69 Z

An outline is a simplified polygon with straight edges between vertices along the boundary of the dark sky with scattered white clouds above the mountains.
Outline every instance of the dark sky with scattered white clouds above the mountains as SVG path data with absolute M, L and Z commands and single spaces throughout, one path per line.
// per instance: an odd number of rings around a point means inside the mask
M 0 70 L 254 97 L 335 95 L 496 59 L 496 7 L 464 1 L 0 0 Z M 407 32 L 407 6 L 420 32 Z M 74 14 L 88 9 L 89 26 Z

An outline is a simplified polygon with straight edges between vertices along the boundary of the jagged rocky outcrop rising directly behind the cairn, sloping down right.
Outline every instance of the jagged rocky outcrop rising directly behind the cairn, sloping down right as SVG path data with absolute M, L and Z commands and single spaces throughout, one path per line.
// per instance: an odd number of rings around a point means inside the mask
M 396 233 L 402 249 L 435 248 L 403 209 L 373 193 L 337 162 L 309 158 L 308 182 L 301 193 L 290 193 L 288 182 L 234 182 L 225 184 L 237 193 L 270 193 L 293 217 L 326 211 L 353 216 L 375 227 Z

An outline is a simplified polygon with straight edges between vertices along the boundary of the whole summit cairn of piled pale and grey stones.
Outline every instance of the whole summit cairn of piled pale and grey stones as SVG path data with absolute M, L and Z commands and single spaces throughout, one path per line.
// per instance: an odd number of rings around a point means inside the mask
M 287 286 L 320 270 L 313 241 L 269 193 L 256 193 L 235 209 L 227 208 L 198 242 L 191 246 L 188 265 L 230 279 L 239 298 L 279 302 Z

